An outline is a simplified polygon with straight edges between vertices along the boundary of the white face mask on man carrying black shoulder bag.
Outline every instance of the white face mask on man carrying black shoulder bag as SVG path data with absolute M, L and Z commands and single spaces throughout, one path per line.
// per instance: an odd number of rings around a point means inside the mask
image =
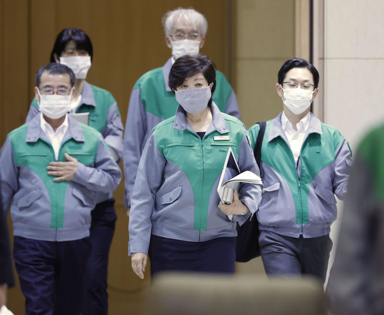
M 280 84 L 281 86 L 281 84 Z M 295 115 L 304 113 L 311 106 L 314 91 L 304 90 L 298 87 L 297 89 L 281 89 L 284 91 L 284 105 Z

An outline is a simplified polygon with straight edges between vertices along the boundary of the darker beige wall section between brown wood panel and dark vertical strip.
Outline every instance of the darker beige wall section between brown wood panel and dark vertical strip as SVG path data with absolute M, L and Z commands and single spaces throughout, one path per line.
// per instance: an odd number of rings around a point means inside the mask
M 238 0 L 235 92 L 247 128 L 282 110 L 277 73 L 292 57 L 309 58 L 309 1 Z

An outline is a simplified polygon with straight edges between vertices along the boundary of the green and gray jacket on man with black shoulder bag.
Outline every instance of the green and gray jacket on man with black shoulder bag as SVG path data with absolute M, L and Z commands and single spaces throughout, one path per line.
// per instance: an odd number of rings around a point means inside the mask
M 248 130 L 252 147 L 259 130 L 258 124 Z M 351 162 L 346 139 L 311 114 L 296 167 L 281 113 L 267 121 L 260 164 L 265 187 L 257 212 L 260 230 L 296 238 L 329 234 L 337 217 L 334 194 L 344 199 Z

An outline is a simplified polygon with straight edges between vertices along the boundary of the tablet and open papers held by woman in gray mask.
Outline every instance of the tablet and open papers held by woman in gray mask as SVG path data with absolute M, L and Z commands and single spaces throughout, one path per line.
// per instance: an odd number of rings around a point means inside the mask
M 240 183 L 262 184 L 262 179 L 250 171 L 240 173 L 232 148 L 229 148 L 217 187 L 222 203 L 230 205 L 233 202 L 233 191 L 238 191 Z M 228 218 L 232 220 L 232 215 Z

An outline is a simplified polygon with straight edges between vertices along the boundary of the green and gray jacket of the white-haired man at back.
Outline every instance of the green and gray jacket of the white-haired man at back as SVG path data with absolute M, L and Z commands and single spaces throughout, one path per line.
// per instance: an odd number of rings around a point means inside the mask
M 152 128 L 175 115 L 179 106 L 175 94 L 168 86 L 172 67 L 171 58 L 164 67 L 153 69 L 141 76 L 133 87 L 129 99 L 124 133 L 124 175 L 126 208 L 131 207 L 131 196 L 140 157 Z M 240 119 L 235 93 L 225 76 L 216 71 L 216 90 L 213 100 L 221 112 Z

